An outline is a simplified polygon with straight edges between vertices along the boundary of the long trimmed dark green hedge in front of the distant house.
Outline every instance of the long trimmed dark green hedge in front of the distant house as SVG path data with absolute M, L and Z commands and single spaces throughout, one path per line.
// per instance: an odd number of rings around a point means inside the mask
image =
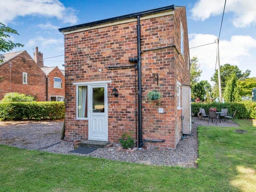
M 55 120 L 64 117 L 64 102 L 0 102 L 0 120 Z

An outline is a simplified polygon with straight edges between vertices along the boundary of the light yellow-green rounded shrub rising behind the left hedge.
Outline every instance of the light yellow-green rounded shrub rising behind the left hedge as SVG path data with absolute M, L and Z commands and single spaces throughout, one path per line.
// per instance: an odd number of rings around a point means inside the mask
M 33 96 L 26 96 L 23 93 L 6 93 L 1 102 L 32 102 L 35 98 Z

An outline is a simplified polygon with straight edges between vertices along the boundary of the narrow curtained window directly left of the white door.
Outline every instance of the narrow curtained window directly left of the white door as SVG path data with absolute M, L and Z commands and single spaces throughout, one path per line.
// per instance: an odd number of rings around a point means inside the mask
M 76 90 L 76 117 L 87 118 L 87 86 L 77 86 Z

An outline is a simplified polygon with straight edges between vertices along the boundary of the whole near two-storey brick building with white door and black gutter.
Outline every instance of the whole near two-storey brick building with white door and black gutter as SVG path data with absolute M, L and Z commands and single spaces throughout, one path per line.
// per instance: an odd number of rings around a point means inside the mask
M 190 134 L 186 9 L 167 6 L 59 29 L 65 46 L 66 140 L 118 142 L 124 132 L 139 137 L 139 62 L 128 62 L 139 58 L 139 21 L 143 145 L 176 148 L 182 116 L 182 132 Z M 162 94 L 160 102 L 146 99 L 152 90 Z

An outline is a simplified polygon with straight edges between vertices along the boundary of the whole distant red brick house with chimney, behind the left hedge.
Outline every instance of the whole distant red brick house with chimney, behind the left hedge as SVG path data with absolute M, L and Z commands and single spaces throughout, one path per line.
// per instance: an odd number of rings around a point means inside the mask
M 63 101 L 64 71 L 44 66 L 38 47 L 34 59 L 26 51 L 4 54 L 4 62 L 0 64 L 0 100 L 9 92 L 32 95 L 37 101 Z

